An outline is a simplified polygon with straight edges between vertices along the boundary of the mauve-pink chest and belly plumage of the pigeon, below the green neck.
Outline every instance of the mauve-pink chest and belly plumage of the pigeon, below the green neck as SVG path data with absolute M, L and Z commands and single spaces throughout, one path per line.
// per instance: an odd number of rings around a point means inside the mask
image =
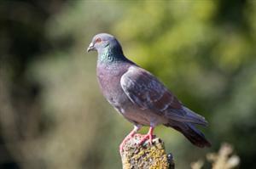
M 132 103 L 121 87 L 121 77 L 130 66 L 127 63 L 103 63 L 97 66 L 97 78 L 103 95 L 128 121 L 147 126 L 150 125 L 152 119 L 157 124 L 160 123 L 159 115 L 150 110 L 143 110 L 137 104 Z

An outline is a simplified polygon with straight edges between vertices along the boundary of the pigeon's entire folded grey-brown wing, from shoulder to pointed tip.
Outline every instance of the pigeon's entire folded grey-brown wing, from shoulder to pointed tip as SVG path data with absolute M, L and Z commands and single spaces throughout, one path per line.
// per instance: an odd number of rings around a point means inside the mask
M 131 66 L 120 80 L 121 87 L 132 103 L 143 110 L 151 110 L 172 121 L 187 121 L 203 126 L 207 121 L 189 110 L 147 70 Z

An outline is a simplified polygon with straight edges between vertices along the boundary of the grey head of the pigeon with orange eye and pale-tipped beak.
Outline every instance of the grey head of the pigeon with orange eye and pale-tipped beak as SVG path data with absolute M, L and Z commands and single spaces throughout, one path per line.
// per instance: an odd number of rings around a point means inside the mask
M 99 33 L 92 38 L 87 52 L 93 50 L 97 51 L 99 55 L 106 53 L 123 55 L 122 47 L 118 40 L 108 33 Z

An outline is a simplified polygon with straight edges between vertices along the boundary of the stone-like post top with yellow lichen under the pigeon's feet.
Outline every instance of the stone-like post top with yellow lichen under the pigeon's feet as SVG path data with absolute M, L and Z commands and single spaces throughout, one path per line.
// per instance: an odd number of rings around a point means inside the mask
M 174 163 L 172 155 L 166 154 L 164 143 L 160 138 L 154 138 L 153 144 L 145 142 L 143 145 L 137 145 L 142 138 L 140 134 L 128 140 L 121 153 L 123 169 L 173 169 Z

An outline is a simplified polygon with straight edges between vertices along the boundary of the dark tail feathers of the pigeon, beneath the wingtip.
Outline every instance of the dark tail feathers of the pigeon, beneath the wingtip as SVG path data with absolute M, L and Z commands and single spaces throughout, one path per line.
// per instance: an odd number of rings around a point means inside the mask
M 207 138 L 205 138 L 205 135 L 189 122 L 170 121 L 165 126 L 173 127 L 177 131 L 182 132 L 183 135 L 197 147 L 211 147 L 211 143 L 207 140 Z

